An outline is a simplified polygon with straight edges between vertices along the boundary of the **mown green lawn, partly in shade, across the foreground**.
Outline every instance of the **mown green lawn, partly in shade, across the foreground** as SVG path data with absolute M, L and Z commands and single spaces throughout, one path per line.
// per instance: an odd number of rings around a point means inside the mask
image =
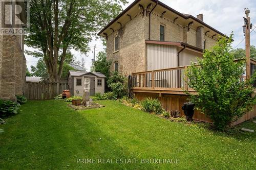
M 116 101 L 74 111 L 28 102 L 0 125 L 1 169 L 256 169 L 256 135 L 170 122 Z M 245 123 L 254 128 L 255 124 Z M 84 164 L 77 159 L 179 159 L 179 164 Z

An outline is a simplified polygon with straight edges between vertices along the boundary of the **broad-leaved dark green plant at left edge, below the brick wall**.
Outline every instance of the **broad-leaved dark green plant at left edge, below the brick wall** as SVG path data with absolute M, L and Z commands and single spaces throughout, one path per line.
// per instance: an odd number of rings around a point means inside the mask
M 12 101 L 4 101 L 0 99 L 0 116 L 9 116 L 18 114 L 20 104 Z

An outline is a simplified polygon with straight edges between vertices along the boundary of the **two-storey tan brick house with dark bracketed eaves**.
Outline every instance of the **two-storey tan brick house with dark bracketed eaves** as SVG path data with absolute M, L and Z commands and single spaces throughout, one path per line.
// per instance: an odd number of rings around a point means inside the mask
M 123 75 L 189 65 L 225 36 L 197 17 L 156 0 L 136 0 L 99 33 L 112 70 Z

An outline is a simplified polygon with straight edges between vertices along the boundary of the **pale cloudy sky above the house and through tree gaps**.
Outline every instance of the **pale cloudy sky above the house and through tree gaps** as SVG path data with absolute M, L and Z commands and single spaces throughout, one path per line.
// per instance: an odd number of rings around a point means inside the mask
M 132 4 L 133 0 L 128 0 L 128 4 L 123 6 L 123 9 Z M 204 15 L 204 22 L 209 26 L 219 30 L 220 32 L 229 35 L 232 31 L 234 33 L 233 48 L 244 48 L 244 33 L 242 26 L 244 25 L 243 16 L 245 16 L 244 8 L 250 9 L 250 18 L 252 23 L 252 29 L 256 27 L 256 1 L 255 0 L 161 0 L 162 3 L 169 7 L 181 12 L 197 16 L 202 13 Z M 72 50 L 72 54 L 77 59 L 81 60 L 84 57 L 86 61 L 86 69 L 89 71 L 92 65 L 92 59 L 94 58 L 94 45 L 96 45 L 96 56 L 98 52 L 103 51 L 103 44 L 100 40 L 93 38 L 93 41 L 89 43 L 91 51 L 87 56 L 80 52 Z M 251 45 L 256 46 L 256 28 L 251 32 Z M 32 50 L 25 45 L 25 50 Z M 27 66 L 30 69 L 32 65 L 36 65 L 38 58 L 26 55 Z

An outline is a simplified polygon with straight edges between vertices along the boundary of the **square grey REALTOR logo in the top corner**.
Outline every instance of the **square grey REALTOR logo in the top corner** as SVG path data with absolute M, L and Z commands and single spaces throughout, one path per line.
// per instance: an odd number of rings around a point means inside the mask
M 29 31 L 29 0 L 0 0 L 0 34 L 24 35 Z

